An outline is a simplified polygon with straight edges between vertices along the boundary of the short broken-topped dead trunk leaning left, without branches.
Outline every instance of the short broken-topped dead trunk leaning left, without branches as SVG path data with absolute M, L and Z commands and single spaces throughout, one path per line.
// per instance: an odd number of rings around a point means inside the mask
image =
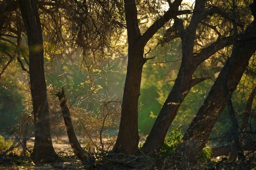
M 65 94 L 64 94 L 64 89 L 61 88 L 61 92 L 59 91 L 56 96 L 58 96 L 58 99 L 60 101 L 60 106 L 61 106 L 61 111 L 63 115 L 63 119 L 67 128 L 67 136 L 68 140 L 70 142 L 70 145 L 76 154 L 76 156 L 81 160 L 81 161 L 90 161 L 91 158 L 88 153 L 86 153 L 81 145 L 79 144 L 77 138 L 76 138 L 76 133 L 72 124 L 72 119 L 70 116 L 70 111 L 69 108 L 67 107 L 66 104 L 66 99 L 65 99 Z

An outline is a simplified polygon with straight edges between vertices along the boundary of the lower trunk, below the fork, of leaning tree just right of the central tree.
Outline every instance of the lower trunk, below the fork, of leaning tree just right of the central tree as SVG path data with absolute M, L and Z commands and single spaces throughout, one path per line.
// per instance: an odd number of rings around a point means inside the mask
M 190 65 L 190 66 L 189 66 Z M 181 103 L 185 99 L 190 90 L 192 74 L 196 66 L 183 62 L 180 66 L 180 71 L 175 80 L 175 84 L 167 97 L 157 119 L 149 133 L 147 140 L 143 144 L 142 150 L 144 153 L 154 155 L 158 152 L 164 143 L 166 133 L 172 124 Z

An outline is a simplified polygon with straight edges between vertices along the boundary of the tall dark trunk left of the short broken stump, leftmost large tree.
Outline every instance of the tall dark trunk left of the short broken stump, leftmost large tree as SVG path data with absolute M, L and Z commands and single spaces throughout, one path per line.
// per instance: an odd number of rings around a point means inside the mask
M 35 143 L 31 159 L 36 164 L 54 162 L 58 156 L 53 149 L 50 133 L 43 37 L 38 8 L 36 0 L 19 0 L 19 5 L 29 44 L 29 78 L 35 121 Z

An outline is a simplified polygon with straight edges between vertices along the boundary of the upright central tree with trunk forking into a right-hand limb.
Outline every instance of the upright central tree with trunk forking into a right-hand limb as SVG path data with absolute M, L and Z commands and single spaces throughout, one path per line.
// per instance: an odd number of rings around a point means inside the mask
M 144 57 L 144 48 L 158 29 L 164 26 L 171 18 L 190 11 L 179 11 L 182 0 L 169 3 L 169 10 L 157 19 L 143 35 L 140 33 L 139 20 L 135 0 L 125 0 L 125 19 L 128 35 L 128 65 L 125 79 L 124 95 L 122 100 L 121 121 L 119 133 L 114 149 L 134 154 L 138 150 L 138 99 L 143 65 L 148 59 Z

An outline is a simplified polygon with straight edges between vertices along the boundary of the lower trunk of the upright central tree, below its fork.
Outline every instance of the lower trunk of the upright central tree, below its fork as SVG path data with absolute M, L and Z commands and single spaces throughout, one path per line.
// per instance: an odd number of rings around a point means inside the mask
M 122 114 L 119 133 L 114 149 L 134 154 L 138 150 L 138 99 L 140 96 L 141 74 L 145 59 L 143 51 L 128 51 L 128 66 L 125 79 Z

